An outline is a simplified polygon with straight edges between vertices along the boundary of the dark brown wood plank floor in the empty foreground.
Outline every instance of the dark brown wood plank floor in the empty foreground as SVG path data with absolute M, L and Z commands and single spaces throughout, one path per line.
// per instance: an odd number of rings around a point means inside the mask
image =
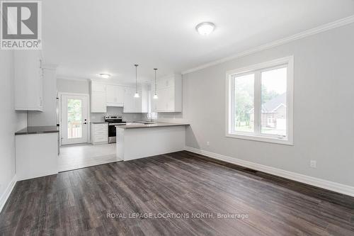
M 175 152 L 19 181 L 0 235 L 354 235 L 354 198 Z

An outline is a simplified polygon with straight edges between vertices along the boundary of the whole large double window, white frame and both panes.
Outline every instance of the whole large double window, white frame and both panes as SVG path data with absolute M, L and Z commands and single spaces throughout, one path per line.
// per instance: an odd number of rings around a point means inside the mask
M 227 72 L 227 137 L 292 145 L 293 57 Z

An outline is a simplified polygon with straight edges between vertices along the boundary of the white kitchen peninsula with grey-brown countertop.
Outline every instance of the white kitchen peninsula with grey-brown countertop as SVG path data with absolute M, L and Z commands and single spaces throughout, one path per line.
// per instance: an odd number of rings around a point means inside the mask
M 182 151 L 185 149 L 187 125 L 181 123 L 117 125 L 117 159 L 127 161 Z

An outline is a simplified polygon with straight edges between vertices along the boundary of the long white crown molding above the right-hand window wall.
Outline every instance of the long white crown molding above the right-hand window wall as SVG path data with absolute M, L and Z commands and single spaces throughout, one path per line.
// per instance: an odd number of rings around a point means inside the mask
M 326 23 L 322 26 L 319 26 L 319 27 L 316 27 L 316 28 L 312 28 L 312 29 L 309 29 L 309 30 L 305 30 L 301 33 L 297 33 L 295 35 L 291 35 L 289 37 L 286 37 L 286 38 L 282 38 L 280 40 L 275 40 L 271 43 L 266 43 L 265 45 L 261 45 L 261 46 L 258 46 L 258 47 L 253 47 L 252 49 L 250 50 L 246 50 L 244 52 L 239 52 L 237 53 L 236 55 L 232 55 L 232 56 L 229 56 L 229 57 L 224 57 L 220 60 L 215 60 L 213 62 L 209 62 L 209 63 L 206 63 L 206 64 L 202 64 L 198 67 L 193 67 L 191 69 L 187 69 L 185 71 L 182 72 L 182 74 L 188 74 L 190 72 L 196 72 L 200 69 L 205 69 L 207 67 L 212 67 L 216 64 L 221 64 L 223 62 L 228 62 L 228 61 L 231 61 L 231 60 L 235 60 L 237 58 L 240 58 L 240 57 L 245 57 L 247 55 L 251 55 L 253 53 L 256 53 L 256 52 L 261 52 L 263 50 L 267 50 L 267 49 L 270 49 L 272 47 L 277 47 L 279 45 L 283 45 L 285 43 L 290 43 L 292 41 L 295 41 L 295 40 L 299 40 L 299 39 L 302 39 L 302 38 L 306 38 L 306 37 L 309 37 L 311 35 L 316 35 L 318 33 L 322 33 L 322 32 L 325 32 L 327 30 L 331 30 L 333 28 L 338 28 L 338 27 L 341 27 L 341 26 L 346 26 L 350 23 L 354 23 L 354 15 L 353 16 L 348 16 L 346 18 L 341 18 L 337 21 L 333 21 L 331 23 Z

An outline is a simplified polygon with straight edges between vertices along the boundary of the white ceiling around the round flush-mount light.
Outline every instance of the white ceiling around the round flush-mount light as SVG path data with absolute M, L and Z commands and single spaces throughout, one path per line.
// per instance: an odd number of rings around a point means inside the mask
M 353 0 L 45 0 L 43 48 L 59 77 L 152 79 L 354 15 Z M 215 23 L 209 36 L 195 26 Z

